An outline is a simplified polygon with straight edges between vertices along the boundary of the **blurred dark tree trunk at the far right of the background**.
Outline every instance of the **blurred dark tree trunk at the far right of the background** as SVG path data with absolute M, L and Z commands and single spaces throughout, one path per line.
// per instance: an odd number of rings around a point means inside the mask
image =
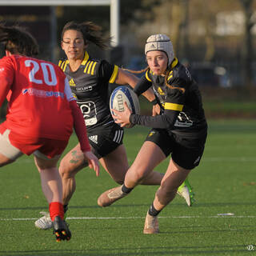
M 244 43 L 242 44 L 242 78 L 246 86 L 251 86 L 253 83 L 252 58 L 254 56 L 251 29 L 256 24 L 256 19 L 253 18 L 254 9 L 252 8 L 254 0 L 240 0 L 240 2 L 245 15 Z

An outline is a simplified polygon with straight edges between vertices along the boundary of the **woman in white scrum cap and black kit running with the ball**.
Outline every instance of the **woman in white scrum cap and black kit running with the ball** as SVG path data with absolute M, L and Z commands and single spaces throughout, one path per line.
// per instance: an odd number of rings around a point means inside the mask
M 155 116 L 131 114 L 127 107 L 124 112 L 114 110 L 115 122 L 121 126 L 132 123 L 150 126 L 152 130 L 127 171 L 124 184 L 104 192 L 98 202 L 110 206 L 123 198 L 171 154 L 166 174 L 146 214 L 143 232 L 154 234 L 158 233 L 158 214 L 174 199 L 178 187 L 202 158 L 207 123 L 198 86 L 186 67 L 174 58 L 170 38 L 165 34 L 150 36 L 145 54 L 149 67 L 134 92 L 140 95 L 153 86 L 161 110 Z

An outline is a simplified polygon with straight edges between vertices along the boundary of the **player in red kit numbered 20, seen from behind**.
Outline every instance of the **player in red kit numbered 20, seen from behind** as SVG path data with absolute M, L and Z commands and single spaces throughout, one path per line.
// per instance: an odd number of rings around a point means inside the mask
M 91 152 L 81 111 L 62 70 L 38 54 L 35 39 L 21 27 L 0 25 L 6 57 L 0 59 L 0 106 L 7 97 L 6 121 L 0 125 L 0 166 L 22 154 L 34 154 L 42 191 L 49 203 L 57 241 L 70 240 L 62 204 L 57 163 L 74 130 L 85 160 L 98 176 L 98 158 Z

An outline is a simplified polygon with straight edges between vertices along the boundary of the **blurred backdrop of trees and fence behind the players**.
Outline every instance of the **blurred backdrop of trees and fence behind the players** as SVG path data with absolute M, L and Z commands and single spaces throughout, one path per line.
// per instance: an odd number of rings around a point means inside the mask
M 93 57 L 142 70 L 146 38 L 167 34 L 178 60 L 202 90 L 208 118 L 256 118 L 256 0 L 85 0 L 81 5 L 63 0 L 55 6 L 46 2 L 58 0 L 0 0 L 0 22 L 26 26 L 38 40 L 40 58 L 58 62 L 64 57 L 60 34 L 71 20 L 92 21 L 102 26 L 104 35 L 113 36 L 106 2 L 114 2 L 117 38 L 105 52 L 90 46 Z

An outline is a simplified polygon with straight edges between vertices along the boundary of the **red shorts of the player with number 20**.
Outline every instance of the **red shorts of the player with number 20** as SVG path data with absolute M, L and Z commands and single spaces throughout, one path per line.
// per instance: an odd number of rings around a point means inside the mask
M 0 133 L 3 134 L 6 129 L 5 123 L 0 125 Z M 22 134 L 16 134 L 10 129 L 9 134 L 10 143 L 21 150 L 23 154 L 33 154 L 38 150 L 42 154 L 45 154 L 48 158 L 54 158 L 56 155 L 60 155 L 66 149 L 68 140 L 58 140 L 53 138 L 30 138 L 23 136 Z

